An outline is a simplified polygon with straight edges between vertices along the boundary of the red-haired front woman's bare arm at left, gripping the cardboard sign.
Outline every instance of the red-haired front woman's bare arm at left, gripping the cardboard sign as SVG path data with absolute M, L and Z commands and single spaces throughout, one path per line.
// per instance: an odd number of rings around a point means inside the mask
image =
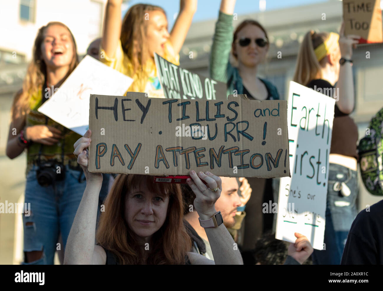
M 78 155 L 77 162 L 87 178 L 87 186 L 69 232 L 65 247 L 65 265 L 105 265 L 106 262 L 105 251 L 95 246 L 98 195 L 101 190 L 102 174 L 87 171 L 88 153 L 85 149 L 90 145 L 90 135 L 91 132 L 88 130 L 74 144 L 74 153 Z

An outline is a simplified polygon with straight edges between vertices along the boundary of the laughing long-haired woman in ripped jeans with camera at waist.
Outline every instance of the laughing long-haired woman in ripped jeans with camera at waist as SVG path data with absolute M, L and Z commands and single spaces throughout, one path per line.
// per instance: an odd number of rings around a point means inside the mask
M 23 89 L 13 100 L 7 156 L 27 151 L 25 203 L 30 213 L 23 215 L 23 264 L 53 265 L 56 250 L 65 248 L 86 186 L 72 150 L 80 135 L 38 112 L 78 63 L 69 28 L 48 23 L 38 31 Z M 57 243 L 59 233 L 62 243 Z

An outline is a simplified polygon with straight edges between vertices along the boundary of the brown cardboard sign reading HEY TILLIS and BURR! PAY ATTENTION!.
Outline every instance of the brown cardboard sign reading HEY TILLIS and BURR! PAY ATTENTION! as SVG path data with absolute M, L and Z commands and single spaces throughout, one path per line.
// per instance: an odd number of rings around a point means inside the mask
M 90 172 L 290 176 L 285 100 L 90 96 Z

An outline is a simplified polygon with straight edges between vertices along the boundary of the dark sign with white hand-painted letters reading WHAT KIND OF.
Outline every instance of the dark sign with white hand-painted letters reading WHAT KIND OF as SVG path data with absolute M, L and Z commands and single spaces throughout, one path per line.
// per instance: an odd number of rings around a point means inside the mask
M 155 66 L 165 98 L 226 100 L 226 84 L 189 72 L 154 53 Z

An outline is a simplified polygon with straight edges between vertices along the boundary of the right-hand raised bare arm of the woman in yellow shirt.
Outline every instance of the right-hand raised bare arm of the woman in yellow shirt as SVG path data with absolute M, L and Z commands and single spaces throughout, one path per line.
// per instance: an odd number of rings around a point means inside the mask
M 175 20 L 172 32 L 170 32 L 170 41 L 176 54 L 178 54 L 182 48 L 196 10 L 197 0 L 180 1 L 180 12 Z

